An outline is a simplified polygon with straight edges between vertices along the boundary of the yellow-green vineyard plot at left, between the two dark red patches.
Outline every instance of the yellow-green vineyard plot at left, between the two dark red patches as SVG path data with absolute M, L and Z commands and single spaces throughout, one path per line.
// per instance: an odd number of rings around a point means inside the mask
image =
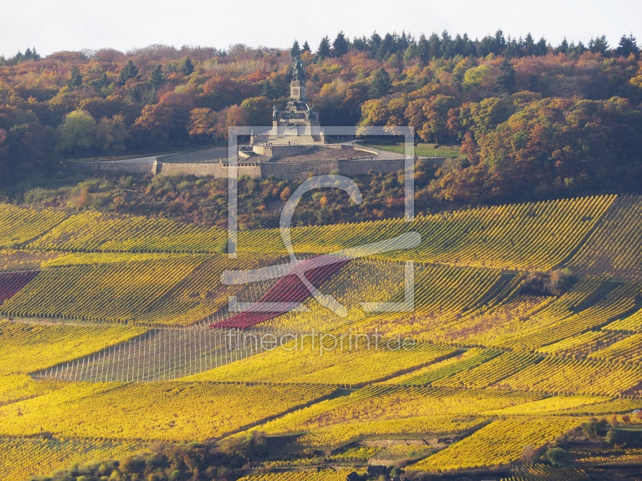
M 72 254 L 44 266 L 33 282 L 0 307 L 3 312 L 15 317 L 185 325 L 211 316 L 227 305 L 228 295 L 247 289 L 221 285 L 223 269 L 259 264 L 255 258 L 230 260 L 223 255 Z

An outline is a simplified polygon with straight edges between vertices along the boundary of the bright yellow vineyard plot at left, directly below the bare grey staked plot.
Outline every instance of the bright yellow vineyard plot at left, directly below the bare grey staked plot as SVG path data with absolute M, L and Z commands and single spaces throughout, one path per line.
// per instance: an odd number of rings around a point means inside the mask
M 304 384 L 78 382 L 0 406 L 0 432 L 37 435 L 42 428 L 62 437 L 201 441 L 256 425 L 333 391 Z

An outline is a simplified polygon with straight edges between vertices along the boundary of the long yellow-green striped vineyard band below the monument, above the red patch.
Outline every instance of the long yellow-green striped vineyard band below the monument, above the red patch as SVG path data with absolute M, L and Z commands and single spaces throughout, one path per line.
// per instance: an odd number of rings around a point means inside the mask
M 422 237 L 418 248 L 381 257 L 548 270 L 577 248 L 614 199 L 602 196 L 478 208 L 417 217 L 412 223 L 389 219 L 295 228 L 291 235 L 297 252 L 325 254 L 415 231 Z M 277 230 L 240 232 L 239 250 L 286 254 Z

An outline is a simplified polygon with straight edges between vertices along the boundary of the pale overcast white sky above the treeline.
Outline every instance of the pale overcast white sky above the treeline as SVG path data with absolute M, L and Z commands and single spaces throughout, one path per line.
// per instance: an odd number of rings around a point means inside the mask
M 297 38 L 313 51 L 322 37 L 343 30 L 350 38 L 372 31 L 410 31 L 419 36 L 446 28 L 471 38 L 494 33 L 519 37 L 529 31 L 557 45 L 585 44 L 595 35 L 612 46 L 632 32 L 642 44 L 639 0 L 459 1 L 166 1 L 0 0 L 0 55 L 35 46 L 61 50 L 112 47 L 127 51 L 149 44 L 225 48 L 230 44 L 289 47 Z

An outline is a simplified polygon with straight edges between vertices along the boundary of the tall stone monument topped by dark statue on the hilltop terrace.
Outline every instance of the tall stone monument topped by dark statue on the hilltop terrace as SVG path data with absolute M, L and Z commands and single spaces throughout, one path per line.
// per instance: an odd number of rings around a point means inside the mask
M 252 144 L 325 144 L 325 135 L 318 121 L 319 114 L 306 99 L 306 69 L 300 56 L 290 56 L 292 80 L 288 105 L 272 106 L 272 130 L 264 135 L 253 135 Z

